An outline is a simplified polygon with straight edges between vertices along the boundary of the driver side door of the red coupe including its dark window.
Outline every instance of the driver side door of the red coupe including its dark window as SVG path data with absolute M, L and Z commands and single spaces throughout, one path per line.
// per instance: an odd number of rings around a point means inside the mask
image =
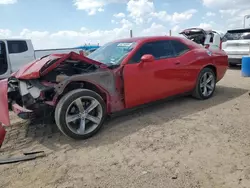
M 141 62 L 145 54 L 154 56 L 152 62 Z M 126 108 L 172 95 L 170 86 L 174 83 L 171 57 L 174 51 L 169 41 L 155 41 L 143 44 L 124 66 L 124 94 Z

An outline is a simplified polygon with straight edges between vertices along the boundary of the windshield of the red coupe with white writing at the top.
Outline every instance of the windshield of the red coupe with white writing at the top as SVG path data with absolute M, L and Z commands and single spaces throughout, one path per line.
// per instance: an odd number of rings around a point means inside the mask
M 106 65 L 120 65 L 136 46 L 136 42 L 111 42 L 98 48 L 87 57 Z

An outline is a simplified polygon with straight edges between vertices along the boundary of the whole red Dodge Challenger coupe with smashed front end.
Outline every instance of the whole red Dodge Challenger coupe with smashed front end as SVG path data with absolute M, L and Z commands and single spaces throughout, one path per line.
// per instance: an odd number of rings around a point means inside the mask
M 115 112 L 179 94 L 210 98 L 228 67 L 222 50 L 179 37 L 110 42 L 87 57 L 53 54 L 0 81 L 0 122 L 54 115 L 73 139 L 94 135 Z

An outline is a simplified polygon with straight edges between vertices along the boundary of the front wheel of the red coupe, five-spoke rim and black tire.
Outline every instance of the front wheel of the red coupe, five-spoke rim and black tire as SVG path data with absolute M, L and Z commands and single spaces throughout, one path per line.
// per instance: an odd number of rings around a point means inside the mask
M 105 102 L 99 94 L 87 89 L 76 89 L 58 102 L 55 121 L 63 134 L 82 140 L 100 130 L 106 114 Z

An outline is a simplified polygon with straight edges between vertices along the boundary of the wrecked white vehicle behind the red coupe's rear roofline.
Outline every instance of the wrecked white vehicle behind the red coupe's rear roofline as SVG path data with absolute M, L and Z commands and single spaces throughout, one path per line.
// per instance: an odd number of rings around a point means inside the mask
M 208 49 L 221 49 L 222 38 L 219 33 L 213 30 L 203 30 L 201 28 L 189 28 L 180 32 L 186 38 L 200 44 Z

